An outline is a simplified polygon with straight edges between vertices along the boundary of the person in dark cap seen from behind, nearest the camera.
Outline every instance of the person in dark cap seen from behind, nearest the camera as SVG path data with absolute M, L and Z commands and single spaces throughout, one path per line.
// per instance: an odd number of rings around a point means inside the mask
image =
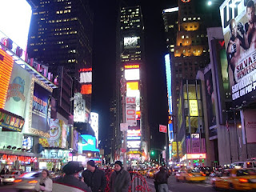
M 57 181 L 54 182 L 53 191 L 91 192 L 90 187 L 88 187 L 85 182 L 81 182 L 78 179 L 78 173 L 82 170 L 83 166 L 80 165 L 79 162 L 68 162 L 66 166 L 63 167 L 65 176 L 58 178 Z

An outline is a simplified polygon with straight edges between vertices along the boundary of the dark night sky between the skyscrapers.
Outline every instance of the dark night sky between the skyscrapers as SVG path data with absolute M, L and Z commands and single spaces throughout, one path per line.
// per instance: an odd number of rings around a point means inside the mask
M 164 134 L 158 133 L 158 125 L 167 122 L 166 68 L 167 54 L 162 10 L 178 6 L 177 0 L 133 1 L 129 5 L 140 5 L 145 26 L 146 86 L 151 147 L 163 149 Z M 203 1 L 206 2 L 206 1 Z M 116 66 L 116 24 L 118 2 L 113 0 L 90 1 L 94 11 L 94 55 L 92 111 L 99 114 L 99 138 L 106 138 L 110 131 L 110 100 L 114 94 Z M 134 4 L 133 4 L 134 3 Z

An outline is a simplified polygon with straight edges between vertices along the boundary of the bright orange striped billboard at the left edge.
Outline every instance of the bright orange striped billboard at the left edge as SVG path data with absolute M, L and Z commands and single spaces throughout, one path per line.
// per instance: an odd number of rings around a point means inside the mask
M 0 49 L 0 108 L 6 103 L 6 94 L 10 84 L 10 75 L 13 70 L 14 60 L 4 50 Z

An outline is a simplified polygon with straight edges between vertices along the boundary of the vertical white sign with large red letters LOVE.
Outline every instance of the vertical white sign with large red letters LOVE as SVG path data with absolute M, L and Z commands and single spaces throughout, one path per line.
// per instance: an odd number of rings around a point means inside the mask
M 126 97 L 126 122 L 128 126 L 137 126 L 135 97 Z

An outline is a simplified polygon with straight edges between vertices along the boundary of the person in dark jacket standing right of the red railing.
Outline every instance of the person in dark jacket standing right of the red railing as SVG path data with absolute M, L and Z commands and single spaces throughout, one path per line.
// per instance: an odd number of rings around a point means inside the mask
M 164 166 L 160 167 L 160 171 L 155 175 L 155 182 L 158 184 L 158 192 L 168 192 L 168 178 L 169 175 L 166 173 Z

